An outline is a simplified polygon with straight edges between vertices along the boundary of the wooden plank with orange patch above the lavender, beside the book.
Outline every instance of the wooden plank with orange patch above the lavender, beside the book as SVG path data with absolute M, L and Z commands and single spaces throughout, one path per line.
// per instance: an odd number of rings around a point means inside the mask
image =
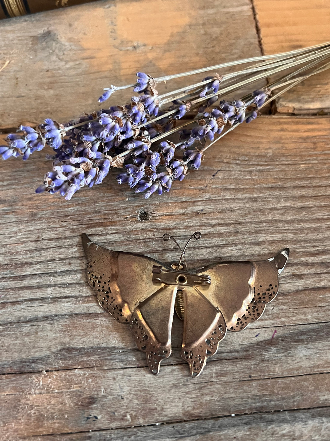
M 0 53 L 0 66 L 11 61 L 0 74 L 4 128 L 92 112 L 103 87 L 135 82 L 137 71 L 169 75 L 260 49 L 249 0 L 111 0 L 4 20 Z M 113 104 L 129 99 L 117 92 Z

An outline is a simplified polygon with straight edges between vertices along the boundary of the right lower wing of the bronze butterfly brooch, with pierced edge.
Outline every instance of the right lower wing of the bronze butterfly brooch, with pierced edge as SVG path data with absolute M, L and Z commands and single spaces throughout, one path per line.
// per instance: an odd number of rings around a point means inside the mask
M 183 339 L 181 357 L 197 377 L 206 359 L 214 355 L 226 335 L 226 323 L 220 310 L 196 288 L 183 288 Z

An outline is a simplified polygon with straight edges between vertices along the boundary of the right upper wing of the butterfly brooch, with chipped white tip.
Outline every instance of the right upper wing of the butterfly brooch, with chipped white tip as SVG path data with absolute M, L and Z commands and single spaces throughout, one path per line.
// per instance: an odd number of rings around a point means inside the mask
M 279 289 L 278 275 L 289 256 L 286 248 L 274 258 L 260 262 L 224 262 L 202 269 L 211 277 L 202 293 L 222 312 L 230 331 L 241 331 L 260 318 L 265 305 Z

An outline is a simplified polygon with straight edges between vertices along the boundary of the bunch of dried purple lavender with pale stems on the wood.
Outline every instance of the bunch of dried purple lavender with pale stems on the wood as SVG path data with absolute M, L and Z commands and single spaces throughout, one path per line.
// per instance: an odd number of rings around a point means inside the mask
M 158 93 L 157 83 L 180 75 L 154 79 L 138 72 L 135 84 L 118 87 L 132 87 L 137 93 L 128 104 L 110 106 L 65 124 L 46 119 L 35 129 L 20 126 L 7 136 L 7 145 L 0 146 L 0 155 L 3 159 L 27 160 L 45 146 L 52 149 L 52 155 L 48 154 L 52 169 L 37 193 L 59 193 L 70 200 L 81 187 L 101 183 L 111 167 L 119 167 L 123 171 L 117 176 L 118 183 L 126 183 L 149 198 L 153 193 L 169 191 L 173 181 L 181 181 L 189 170 L 197 170 L 209 146 L 244 121 L 257 118 L 265 103 L 328 68 L 329 63 L 320 62 L 329 54 L 330 45 L 322 45 L 266 57 L 252 67 L 224 76 L 207 76 L 199 83 L 163 95 Z M 261 57 L 243 61 L 251 60 L 259 61 Z M 234 101 L 219 101 L 226 93 L 298 65 L 302 67 L 268 88 Z M 299 76 L 303 72 L 305 75 Z M 186 74 L 190 73 L 181 75 Z M 271 97 L 275 89 L 279 92 Z M 105 89 L 99 102 L 109 99 L 116 90 L 115 86 Z M 185 122 L 180 123 L 183 118 Z

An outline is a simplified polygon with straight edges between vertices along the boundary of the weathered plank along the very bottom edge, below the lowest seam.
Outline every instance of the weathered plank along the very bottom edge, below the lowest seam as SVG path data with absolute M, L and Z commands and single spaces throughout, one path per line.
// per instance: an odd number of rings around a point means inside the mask
M 42 435 L 24 437 L 22 441 L 327 441 L 329 429 L 329 410 L 319 408 L 100 430 L 92 434 Z

